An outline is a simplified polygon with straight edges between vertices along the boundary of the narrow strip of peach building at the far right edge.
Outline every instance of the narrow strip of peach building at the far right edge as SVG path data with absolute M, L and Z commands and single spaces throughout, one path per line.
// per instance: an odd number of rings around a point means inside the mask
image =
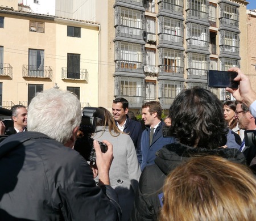
M 247 10 L 248 57 L 247 71 L 244 71 L 256 90 L 256 10 Z

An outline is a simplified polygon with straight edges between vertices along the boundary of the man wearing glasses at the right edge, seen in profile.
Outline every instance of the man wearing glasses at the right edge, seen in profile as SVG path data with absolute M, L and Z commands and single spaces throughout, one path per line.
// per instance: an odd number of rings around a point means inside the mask
M 234 116 L 238 119 L 238 128 L 243 130 L 256 129 L 255 118 L 253 117 L 253 115 L 249 111 L 249 108 L 245 104 L 241 102 L 237 104 Z M 245 146 L 245 139 L 243 139 L 240 151 L 243 152 L 243 154 L 245 155 L 247 165 L 250 165 L 251 160 L 256 155 L 256 148 L 254 146 Z

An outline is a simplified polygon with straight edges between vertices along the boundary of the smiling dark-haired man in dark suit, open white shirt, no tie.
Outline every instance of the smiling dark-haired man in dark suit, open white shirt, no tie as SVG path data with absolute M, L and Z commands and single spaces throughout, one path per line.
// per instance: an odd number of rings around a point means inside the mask
M 127 115 L 128 111 L 129 102 L 126 99 L 118 97 L 113 100 L 112 114 L 115 124 L 121 131 L 130 135 L 136 150 L 138 150 L 141 144 L 142 125 L 140 122 L 131 120 Z

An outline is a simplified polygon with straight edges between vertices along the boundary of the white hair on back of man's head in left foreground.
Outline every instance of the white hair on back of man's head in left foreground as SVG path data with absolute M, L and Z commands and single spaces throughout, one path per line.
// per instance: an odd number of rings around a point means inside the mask
M 65 144 L 81 123 L 81 104 L 76 95 L 54 88 L 36 94 L 28 107 L 28 130 L 48 135 Z

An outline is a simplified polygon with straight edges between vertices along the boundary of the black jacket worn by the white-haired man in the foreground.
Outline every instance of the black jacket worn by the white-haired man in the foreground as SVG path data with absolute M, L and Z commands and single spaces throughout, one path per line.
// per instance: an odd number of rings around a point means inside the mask
M 42 133 L 1 142 L 0 180 L 0 220 L 118 219 L 114 190 L 96 186 L 77 151 Z

